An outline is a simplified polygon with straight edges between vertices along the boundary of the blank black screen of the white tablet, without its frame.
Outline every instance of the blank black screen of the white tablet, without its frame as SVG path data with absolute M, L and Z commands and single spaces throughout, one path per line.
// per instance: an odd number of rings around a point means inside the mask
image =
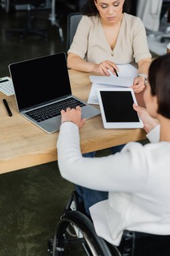
M 130 91 L 100 91 L 107 123 L 139 122 Z

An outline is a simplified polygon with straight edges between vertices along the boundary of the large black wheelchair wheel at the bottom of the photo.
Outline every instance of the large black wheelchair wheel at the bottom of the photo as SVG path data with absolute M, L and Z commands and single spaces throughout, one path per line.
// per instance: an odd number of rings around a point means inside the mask
M 67 232 L 72 228 L 74 230 Z M 78 211 L 67 212 L 56 226 L 53 238 L 52 255 L 89 255 L 118 256 L 120 253 L 113 247 L 112 252 L 103 238 L 97 236 L 93 223 L 87 216 Z

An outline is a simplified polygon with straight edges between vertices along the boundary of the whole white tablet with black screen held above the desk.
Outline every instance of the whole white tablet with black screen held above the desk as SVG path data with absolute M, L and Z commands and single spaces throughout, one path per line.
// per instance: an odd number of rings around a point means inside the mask
M 97 89 L 103 127 L 106 129 L 142 128 L 133 108 L 137 104 L 132 88 Z

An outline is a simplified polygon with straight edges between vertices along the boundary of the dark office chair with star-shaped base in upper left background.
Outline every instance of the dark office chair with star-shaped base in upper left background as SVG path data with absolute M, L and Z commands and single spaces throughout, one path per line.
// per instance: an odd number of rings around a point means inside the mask
M 9 1 L 9 0 L 6 0 Z M 36 16 L 32 16 L 33 11 L 34 14 L 38 11 L 39 7 L 43 7 L 45 5 L 46 0 L 13 0 L 13 5 L 27 5 L 27 19 L 26 19 L 26 26 L 24 28 L 8 28 L 6 30 L 7 35 L 9 34 L 19 34 L 19 39 L 21 42 L 24 41 L 24 38 L 28 34 L 38 35 L 44 40 L 48 40 L 48 32 L 47 30 L 36 28 L 33 26 L 33 18 L 35 19 Z

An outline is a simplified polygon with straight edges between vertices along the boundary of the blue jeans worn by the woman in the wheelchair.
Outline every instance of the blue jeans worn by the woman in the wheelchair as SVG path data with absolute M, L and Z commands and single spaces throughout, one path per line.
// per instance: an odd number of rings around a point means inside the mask
M 112 154 L 115 154 L 116 152 L 120 152 L 123 147 L 124 147 L 124 144 L 112 147 L 111 148 Z M 83 154 L 83 157 L 93 158 L 93 157 L 95 157 L 95 152 L 85 153 L 85 154 Z M 87 214 L 87 216 L 90 216 L 89 207 L 91 207 L 95 203 L 98 203 L 99 201 L 108 199 L 108 192 L 105 192 L 105 191 L 97 191 L 97 190 L 93 190 L 93 189 L 87 189 L 87 188 L 81 187 L 79 185 L 75 185 L 75 189 L 79 196 L 79 203 L 84 204 L 85 214 Z

